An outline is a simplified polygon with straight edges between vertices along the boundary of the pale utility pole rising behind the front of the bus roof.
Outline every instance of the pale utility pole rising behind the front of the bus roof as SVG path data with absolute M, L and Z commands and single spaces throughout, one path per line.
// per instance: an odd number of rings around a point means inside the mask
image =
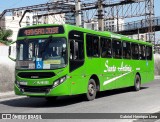
M 81 17 L 81 1 L 75 0 L 75 9 L 76 9 L 76 26 L 82 26 L 82 17 Z

